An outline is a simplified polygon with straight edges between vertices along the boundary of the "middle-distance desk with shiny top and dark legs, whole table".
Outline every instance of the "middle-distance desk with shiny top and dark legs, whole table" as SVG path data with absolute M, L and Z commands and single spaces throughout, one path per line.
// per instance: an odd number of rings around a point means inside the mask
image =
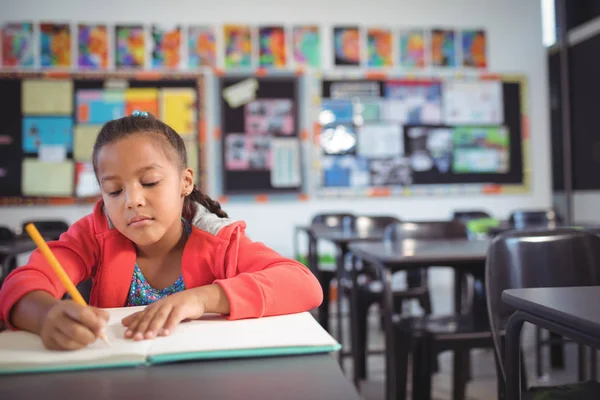
M 385 387 L 386 399 L 396 397 L 396 382 L 394 381 L 394 329 L 392 273 L 432 266 L 451 267 L 462 276 L 464 273 L 473 275 L 474 299 L 472 315 L 481 317 L 487 315 L 485 302 L 484 272 L 487 256 L 488 240 L 481 239 L 447 239 L 447 240 L 413 240 L 382 241 L 377 243 L 352 243 L 349 251 L 354 257 L 375 267 L 383 283 L 383 317 L 385 329 Z M 353 263 L 354 264 L 354 263 Z M 356 287 L 356 269 L 352 269 L 353 288 Z M 458 279 L 459 281 L 461 279 Z M 455 285 L 460 282 L 455 282 Z M 460 293 L 455 290 L 456 294 Z M 351 301 L 356 304 L 356 291 L 351 294 Z M 460 301 L 455 299 L 460 310 Z M 352 329 L 356 331 L 355 327 Z M 353 353 L 354 380 L 364 376 L 365 354 Z

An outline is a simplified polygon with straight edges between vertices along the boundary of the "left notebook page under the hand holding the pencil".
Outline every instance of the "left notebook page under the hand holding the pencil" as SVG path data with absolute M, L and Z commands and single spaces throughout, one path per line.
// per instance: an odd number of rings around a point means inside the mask
M 64 366 L 84 367 L 118 364 L 141 364 L 146 360 L 150 341 L 125 339 L 121 319 L 140 309 L 109 309 L 106 336 L 110 346 L 97 339 L 76 351 L 47 350 L 38 335 L 24 331 L 0 333 L 0 374 L 14 370 L 61 369 Z M 55 367 L 55 368 L 52 368 Z

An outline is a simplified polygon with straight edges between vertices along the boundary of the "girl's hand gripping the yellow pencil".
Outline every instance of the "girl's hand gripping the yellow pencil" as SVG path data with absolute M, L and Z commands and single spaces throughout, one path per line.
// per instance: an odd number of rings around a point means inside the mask
M 48 311 L 40 337 L 49 350 L 78 350 L 94 343 L 107 322 L 106 311 L 63 300 Z

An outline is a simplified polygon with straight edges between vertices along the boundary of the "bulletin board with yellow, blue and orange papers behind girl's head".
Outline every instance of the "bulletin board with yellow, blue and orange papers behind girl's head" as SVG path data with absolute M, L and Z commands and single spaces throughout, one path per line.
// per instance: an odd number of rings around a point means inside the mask
M 203 85 L 199 74 L 0 73 L 0 205 L 95 202 L 96 136 L 134 110 L 182 136 L 204 183 Z

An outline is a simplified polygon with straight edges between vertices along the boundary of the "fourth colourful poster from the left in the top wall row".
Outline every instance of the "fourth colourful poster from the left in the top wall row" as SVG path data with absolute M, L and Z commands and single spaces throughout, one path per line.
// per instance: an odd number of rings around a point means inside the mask
M 115 66 L 143 68 L 146 63 L 146 33 L 141 25 L 115 28 Z

